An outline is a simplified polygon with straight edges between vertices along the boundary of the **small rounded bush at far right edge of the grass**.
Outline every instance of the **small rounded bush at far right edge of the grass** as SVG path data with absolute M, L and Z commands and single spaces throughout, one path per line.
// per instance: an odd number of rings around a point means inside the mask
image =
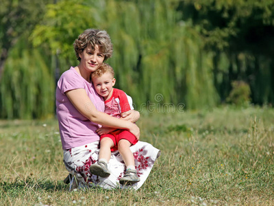
M 227 97 L 227 102 L 236 106 L 247 106 L 250 102 L 250 87 L 249 84 L 242 81 L 232 82 L 232 91 Z

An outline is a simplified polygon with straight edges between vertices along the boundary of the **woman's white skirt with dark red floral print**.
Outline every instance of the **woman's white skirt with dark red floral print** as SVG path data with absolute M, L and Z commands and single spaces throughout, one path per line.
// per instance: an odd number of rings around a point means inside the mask
M 70 179 L 71 187 L 73 181 L 77 181 L 79 189 L 86 189 L 88 187 L 103 187 L 105 189 L 114 188 L 134 188 L 138 190 L 145 183 L 147 176 L 151 172 L 155 160 L 160 156 L 160 150 L 154 148 L 151 144 L 144 141 L 138 141 L 137 144 L 130 147 L 134 154 L 135 167 L 140 181 L 133 185 L 121 185 L 119 180 L 125 174 L 125 163 L 119 151 L 112 152 L 108 169 L 110 176 L 103 178 L 90 174 L 90 165 L 98 161 L 99 155 L 99 141 L 95 141 L 84 146 L 64 150 L 64 165 L 69 171 L 72 179 Z M 70 188 L 71 189 L 71 188 Z

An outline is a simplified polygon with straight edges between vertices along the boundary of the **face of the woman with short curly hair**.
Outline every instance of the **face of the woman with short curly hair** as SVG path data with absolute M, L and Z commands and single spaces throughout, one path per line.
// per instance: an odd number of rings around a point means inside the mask
M 98 45 L 95 45 L 93 51 L 90 47 L 86 47 L 79 57 L 81 58 L 80 65 L 88 72 L 96 71 L 105 59 L 105 55 L 99 51 Z

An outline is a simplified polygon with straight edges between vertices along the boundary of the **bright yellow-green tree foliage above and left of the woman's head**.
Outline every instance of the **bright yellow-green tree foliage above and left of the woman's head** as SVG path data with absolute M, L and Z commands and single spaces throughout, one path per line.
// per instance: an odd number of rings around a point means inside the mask
M 34 46 L 49 45 L 52 54 L 60 54 L 68 63 L 76 63 L 73 42 L 88 27 L 98 27 L 97 10 L 83 1 L 58 1 L 48 4 L 42 23 L 36 25 L 31 39 Z M 64 71 L 64 69 L 62 70 Z

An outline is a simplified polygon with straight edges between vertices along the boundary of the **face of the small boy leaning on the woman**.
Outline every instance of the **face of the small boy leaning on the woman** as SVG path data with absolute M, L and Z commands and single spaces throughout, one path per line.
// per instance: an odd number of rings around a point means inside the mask
M 92 82 L 95 90 L 103 97 L 103 100 L 108 100 L 111 97 L 113 86 L 116 82 L 116 80 L 112 78 L 111 73 L 106 72 L 100 77 L 94 77 L 92 78 Z

